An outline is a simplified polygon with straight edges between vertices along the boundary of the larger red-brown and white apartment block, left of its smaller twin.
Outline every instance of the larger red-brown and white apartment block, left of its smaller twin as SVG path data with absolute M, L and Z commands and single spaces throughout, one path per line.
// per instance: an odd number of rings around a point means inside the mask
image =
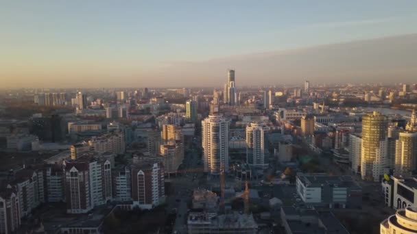
M 87 213 L 112 198 L 111 162 L 86 155 L 65 161 L 67 213 Z

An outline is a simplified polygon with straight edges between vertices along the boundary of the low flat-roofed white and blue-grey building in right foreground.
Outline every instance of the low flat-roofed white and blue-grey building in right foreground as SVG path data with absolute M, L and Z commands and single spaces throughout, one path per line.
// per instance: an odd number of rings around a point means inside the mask
M 361 207 L 362 189 L 348 176 L 300 174 L 297 194 L 306 205 L 329 208 Z

